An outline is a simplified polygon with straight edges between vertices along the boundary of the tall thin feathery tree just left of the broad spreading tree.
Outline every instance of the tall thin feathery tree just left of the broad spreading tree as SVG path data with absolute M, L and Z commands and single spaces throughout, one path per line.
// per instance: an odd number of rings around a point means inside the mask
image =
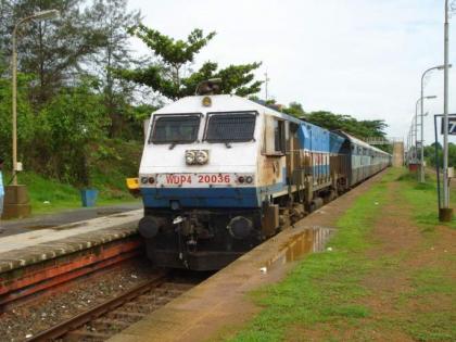
M 102 85 L 104 107 L 111 119 L 110 137 L 122 134 L 131 99 L 131 86 L 113 77 L 113 69 L 126 68 L 135 63 L 129 49 L 128 27 L 138 25 L 140 12 L 127 10 L 126 0 L 96 0 L 87 17 L 102 35 L 101 48 L 91 56 Z

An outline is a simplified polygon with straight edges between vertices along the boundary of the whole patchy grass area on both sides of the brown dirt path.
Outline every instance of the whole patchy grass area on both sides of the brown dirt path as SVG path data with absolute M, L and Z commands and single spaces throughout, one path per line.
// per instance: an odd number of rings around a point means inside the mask
M 396 182 L 398 195 L 388 193 L 388 182 Z M 390 169 L 381 181 L 360 195 L 339 219 L 338 233 L 330 241 L 332 251 L 312 254 L 273 286 L 251 294 L 263 309 L 245 326 L 227 333 L 228 341 L 367 341 L 372 332 L 392 333 L 393 340 L 406 335 L 417 341 L 456 340 L 456 296 L 454 258 L 449 253 L 435 256 L 436 265 L 410 268 L 411 250 L 368 257 L 368 251 L 379 245 L 370 235 L 381 219 L 387 201 L 408 212 L 422 231 L 419 249 L 428 249 L 439 235 L 434 205 L 436 194 L 432 179 L 418 185 L 403 169 Z M 451 227 L 454 227 L 451 224 Z M 439 263 L 446 263 L 442 265 Z M 407 273 L 405 289 L 394 293 L 366 286 L 366 279 L 381 279 Z M 365 304 L 376 296 L 391 305 L 394 315 L 381 315 Z M 438 301 L 439 304 L 435 304 Z M 433 307 L 430 309 L 429 307 Z M 438 308 L 436 308 L 438 307 Z M 396 335 L 395 335 L 396 334 Z M 390 335 L 391 337 L 391 335 Z

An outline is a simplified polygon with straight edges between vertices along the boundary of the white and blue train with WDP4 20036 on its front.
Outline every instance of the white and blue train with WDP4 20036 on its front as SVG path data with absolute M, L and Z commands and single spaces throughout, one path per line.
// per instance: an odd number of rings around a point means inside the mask
M 216 270 L 391 164 L 341 130 L 235 94 L 195 94 L 152 113 L 138 224 L 160 267 Z

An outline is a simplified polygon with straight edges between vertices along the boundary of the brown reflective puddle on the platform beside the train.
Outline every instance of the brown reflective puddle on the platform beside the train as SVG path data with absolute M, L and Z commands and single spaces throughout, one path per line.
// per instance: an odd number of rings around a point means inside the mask
M 313 227 L 305 229 L 302 233 L 293 236 L 280 248 L 276 257 L 268 261 L 261 269 L 267 271 L 276 267 L 299 261 L 305 255 L 321 252 L 325 244 L 334 232 L 333 228 Z

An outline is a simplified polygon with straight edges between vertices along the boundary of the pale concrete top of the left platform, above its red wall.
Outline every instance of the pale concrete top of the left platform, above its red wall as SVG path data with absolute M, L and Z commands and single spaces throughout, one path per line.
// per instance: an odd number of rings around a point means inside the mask
M 0 273 L 135 235 L 142 216 L 137 210 L 0 238 Z

